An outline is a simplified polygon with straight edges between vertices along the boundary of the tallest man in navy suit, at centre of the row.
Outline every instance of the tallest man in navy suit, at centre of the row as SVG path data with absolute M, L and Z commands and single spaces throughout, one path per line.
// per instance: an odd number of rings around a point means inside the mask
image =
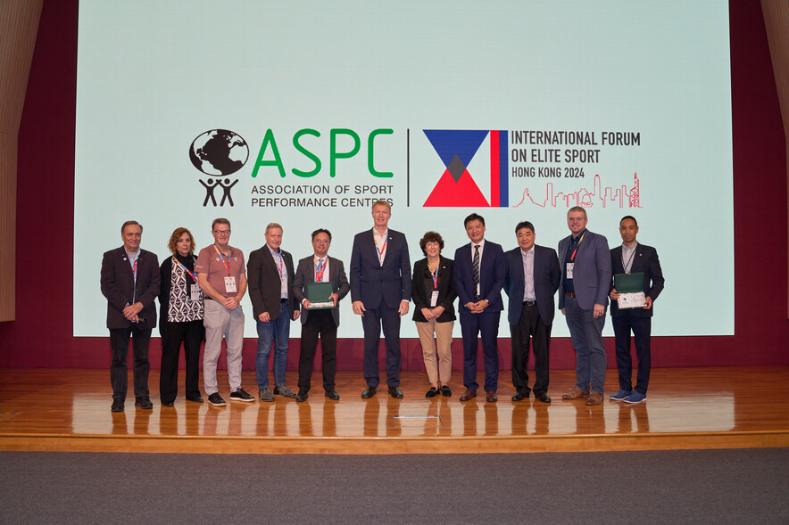
M 364 381 L 362 398 L 378 389 L 378 341 L 381 327 L 386 341 L 386 384 L 389 395 L 403 398 L 400 390 L 400 317 L 411 301 L 411 260 L 405 235 L 388 227 L 392 205 L 372 205 L 372 230 L 353 238 L 351 250 L 351 300 L 353 313 L 361 316 L 364 329 Z

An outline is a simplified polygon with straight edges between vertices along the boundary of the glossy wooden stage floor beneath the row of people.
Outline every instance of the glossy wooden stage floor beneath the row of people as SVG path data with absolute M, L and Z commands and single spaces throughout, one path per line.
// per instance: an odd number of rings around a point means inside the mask
M 403 373 L 399 400 L 386 387 L 361 399 L 361 372 L 340 372 L 338 402 L 323 396 L 319 372 L 312 378 L 317 389 L 304 403 L 230 402 L 227 373 L 220 371 L 219 379 L 228 406 L 191 403 L 181 393 L 175 406 L 163 407 L 159 373 L 152 370 L 154 409 L 136 408 L 129 395 L 125 412 L 112 414 L 109 370 L 0 369 L 0 450 L 425 454 L 789 447 L 785 366 L 654 369 L 647 400 L 633 406 L 607 397 L 601 406 L 563 401 L 561 393 L 575 382 L 569 370 L 552 371 L 550 405 L 534 398 L 511 402 L 505 370 L 498 403 L 486 403 L 484 395 L 461 403 L 460 372 L 451 383 L 453 397 L 433 399 L 424 397 L 424 373 Z M 480 373 L 480 384 L 483 379 Z M 245 371 L 243 380 L 256 394 L 254 372 Z M 296 373 L 289 371 L 287 380 L 294 388 Z M 183 371 L 179 384 L 183 392 Z M 607 394 L 618 390 L 615 370 L 608 371 L 606 388 Z

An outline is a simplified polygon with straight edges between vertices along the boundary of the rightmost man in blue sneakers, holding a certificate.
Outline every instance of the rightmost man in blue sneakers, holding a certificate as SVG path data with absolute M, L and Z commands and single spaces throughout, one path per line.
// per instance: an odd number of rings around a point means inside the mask
M 622 245 L 610 250 L 610 262 L 614 275 L 644 274 L 644 308 L 619 309 L 619 293 L 610 291 L 610 315 L 616 337 L 617 368 L 619 369 L 619 392 L 610 396 L 614 401 L 641 403 L 646 399 L 650 371 L 650 337 L 652 312 L 655 299 L 663 290 L 663 271 L 660 269 L 658 252 L 652 246 L 635 242 L 638 223 L 630 215 L 619 221 Z M 635 339 L 635 354 L 638 357 L 638 373 L 633 390 L 633 361 L 630 357 L 630 331 Z

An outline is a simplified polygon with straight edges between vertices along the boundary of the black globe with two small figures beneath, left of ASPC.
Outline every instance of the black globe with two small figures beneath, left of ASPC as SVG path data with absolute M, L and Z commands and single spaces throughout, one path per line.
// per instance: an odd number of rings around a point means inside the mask
M 230 181 L 228 175 L 236 173 L 249 159 L 249 146 L 241 135 L 228 129 L 212 129 L 197 135 L 192 145 L 189 146 L 189 160 L 195 168 L 207 175 L 207 179 L 200 179 L 200 184 L 205 188 L 203 206 L 208 206 L 211 201 L 220 206 L 227 201 L 233 206 L 233 197 L 230 190 L 237 185 L 238 179 Z M 221 198 L 215 194 L 217 187 L 222 189 Z

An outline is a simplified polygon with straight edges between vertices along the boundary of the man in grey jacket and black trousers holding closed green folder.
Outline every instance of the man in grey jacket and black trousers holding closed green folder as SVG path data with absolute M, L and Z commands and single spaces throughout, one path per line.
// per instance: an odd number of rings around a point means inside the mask
M 296 401 L 306 401 L 311 387 L 312 361 L 318 348 L 320 336 L 320 354 L 323 361 L 323 390 L 327 398 L 338 401 L 340 396 L 335 390 L 335 373 L 337 369 L 337 326 L 340 325 L 339 302 L 343 299 L 351 285 L 345 276 L 343 261 L 328 257 L 331 245 L 331 232 L 324 229 L 312 232 L 313 255 L 299 260 L 293 281 L 293 296 L 302 307 L 302 350 L 299 357 L 299 393 Z M 304 288 L 307 283 L 331 283 L 332 293 L 329 299 L 334 303 L 330 309 L 310 310 Z

